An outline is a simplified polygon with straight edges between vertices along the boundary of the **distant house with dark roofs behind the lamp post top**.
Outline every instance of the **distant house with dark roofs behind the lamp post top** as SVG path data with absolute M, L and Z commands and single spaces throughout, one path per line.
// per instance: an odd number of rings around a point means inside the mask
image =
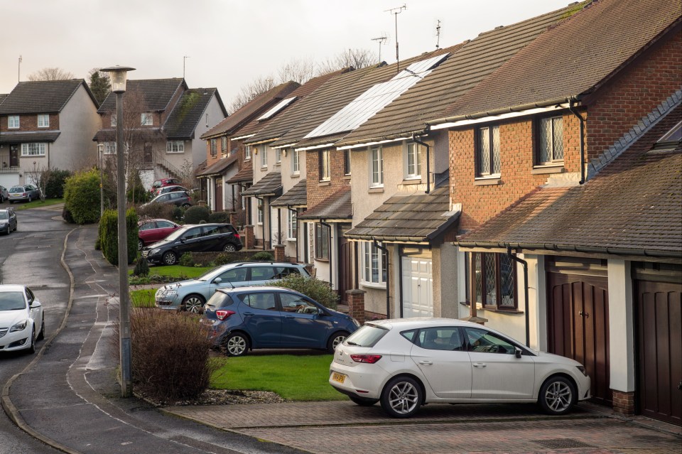
M 182 78 L 129 80 L 124 99 L 126 141 L 139 157 L 136 166 L 146 187 L 153 180 L 193 178 L 205 159 L 200 139 L 227 116 L 215 88 L 190 89 Z M 116 153 L 116 97 L 109 94 L 97 111 L 102 129 L 94 141 L 104 144 L 104 155 Z

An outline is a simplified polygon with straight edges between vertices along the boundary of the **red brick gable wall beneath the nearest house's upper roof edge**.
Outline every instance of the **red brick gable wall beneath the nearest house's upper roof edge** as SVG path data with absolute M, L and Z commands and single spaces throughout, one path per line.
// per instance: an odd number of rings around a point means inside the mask
M 588 107 L 588 158 L 594 158 L 682 87 L 682 33 L 658 43 L 615 80 L 595 92 Z

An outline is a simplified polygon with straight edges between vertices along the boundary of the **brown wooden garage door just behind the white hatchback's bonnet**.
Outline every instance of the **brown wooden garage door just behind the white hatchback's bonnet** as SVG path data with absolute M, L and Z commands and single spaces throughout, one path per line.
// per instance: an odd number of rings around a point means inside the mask
M 571 265 L 562 269 L 558 259 L 548 272 L 548 350 L 583 363 L 592 380 L 592 400 L 610 405 L 608 279 L 600 276 L 606 269 Z

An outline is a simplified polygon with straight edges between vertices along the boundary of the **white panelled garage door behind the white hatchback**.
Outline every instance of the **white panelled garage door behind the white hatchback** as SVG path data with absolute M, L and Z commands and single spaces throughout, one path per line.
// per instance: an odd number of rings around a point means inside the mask
M 403 265 L 403 317 L 433 317 L 431 259 L 401 257 Z

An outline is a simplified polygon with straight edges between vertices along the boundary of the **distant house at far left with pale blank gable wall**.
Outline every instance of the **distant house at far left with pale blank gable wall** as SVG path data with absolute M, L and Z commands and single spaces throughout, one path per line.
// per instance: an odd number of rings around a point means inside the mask
M 97 107 L 83 79 L 19 82 L 0 97 L 0 185 L 36 184 L 42 169 L 94 165 Z

